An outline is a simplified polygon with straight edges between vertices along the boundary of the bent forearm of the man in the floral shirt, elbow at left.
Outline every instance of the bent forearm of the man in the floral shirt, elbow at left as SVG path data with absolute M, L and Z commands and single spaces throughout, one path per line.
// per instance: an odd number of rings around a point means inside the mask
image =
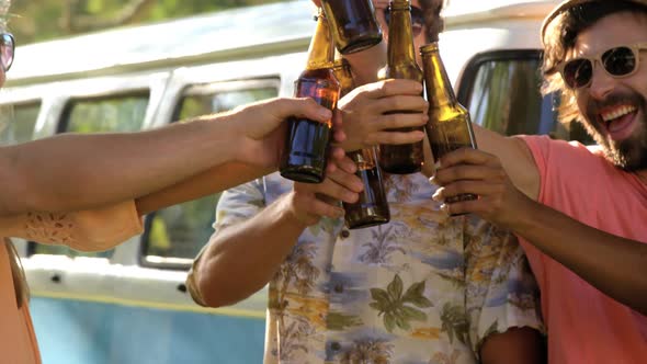
M 194 269 L 205 305 L 232 305 L 274 276 L 306 227 L 288 212 L 291 197 L 284 195 L 253 218 L 212 238 Z

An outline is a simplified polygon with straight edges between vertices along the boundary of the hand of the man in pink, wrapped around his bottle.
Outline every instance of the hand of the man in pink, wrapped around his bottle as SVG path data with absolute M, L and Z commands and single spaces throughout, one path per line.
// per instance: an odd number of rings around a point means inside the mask
M 435 201 L 464 193 L 478 195 L 475 201 L 444 205 L 447 213 L 475 213 L 501 227 L 512 228 L 515 216 L 533 203 L 512 184 L 498 157 L 477 149 L 462 148 L 443 156 L 431 181 L 442 186 Z

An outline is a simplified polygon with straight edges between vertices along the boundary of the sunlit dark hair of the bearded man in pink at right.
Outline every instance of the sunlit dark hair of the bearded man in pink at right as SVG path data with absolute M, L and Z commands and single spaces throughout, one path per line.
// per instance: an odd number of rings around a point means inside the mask
M 557 66 L 566 59 L 566 55 L 572 49 L 577 36 L 595 22 L 608 15 L 618 12 L 632 12 L 638 15 L 647 15 L 647 7 L 631 1 L 591 1 L 575 5 L 559 14 L 544 36 L 544 60 L 542 72 L 544 73 L 544 94 L 554 91 L 561 92 L 561 105 L 559 106 L 559 121 L 568 123 L 580 117 L 577 107 L 575 92 L 565 87 Z

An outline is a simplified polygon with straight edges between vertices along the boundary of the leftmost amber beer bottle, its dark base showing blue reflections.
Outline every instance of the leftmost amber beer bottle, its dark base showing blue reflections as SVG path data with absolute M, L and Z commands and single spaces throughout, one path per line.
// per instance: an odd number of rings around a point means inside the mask
M 334 110 L 340 84 L 332 71 L 334 44 L 326 18 L 319 13 L 317 29 L 310 42 L 306 69 L 295 81 L 297 98 L 311 98 L 320 105 Z M 288 120 L 280 172 L 293 181 L 320 183 L 324 181 L 332 121 L 319 123 L 303 117 Z

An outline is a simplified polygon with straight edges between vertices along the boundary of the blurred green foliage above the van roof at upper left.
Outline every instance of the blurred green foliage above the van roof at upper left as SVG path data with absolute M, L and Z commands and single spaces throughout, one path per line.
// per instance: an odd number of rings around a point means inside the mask
M 9 26 L 19 44 L 109 27 L 287 0 L 14 0 Z

